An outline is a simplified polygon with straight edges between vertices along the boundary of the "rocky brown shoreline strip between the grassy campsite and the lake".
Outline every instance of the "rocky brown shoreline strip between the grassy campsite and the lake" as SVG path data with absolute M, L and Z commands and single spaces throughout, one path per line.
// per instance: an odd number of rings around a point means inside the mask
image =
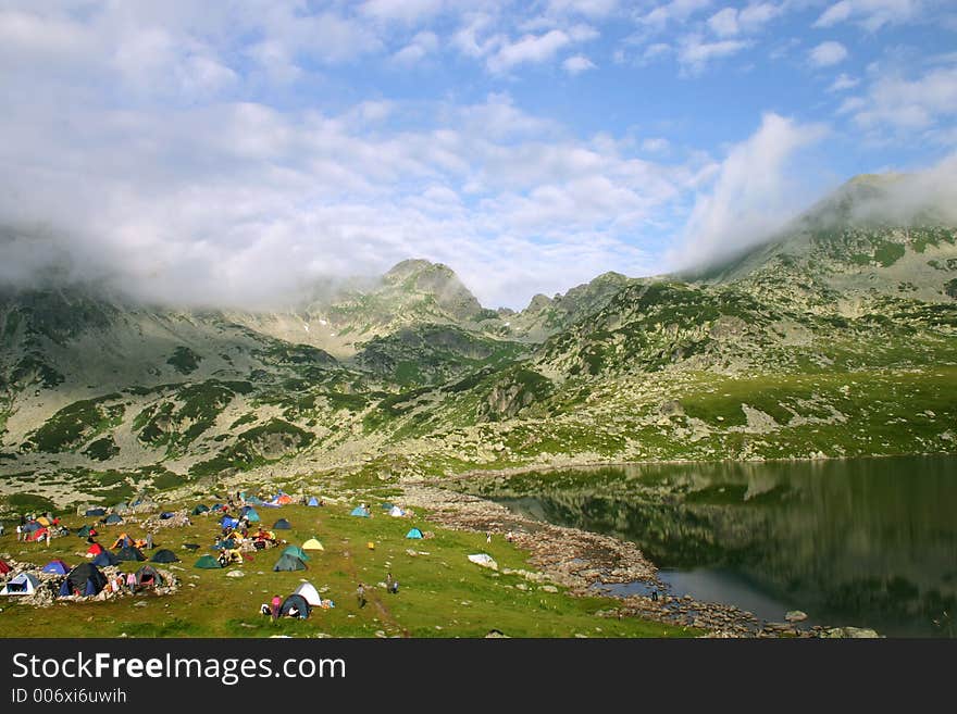
M 706 630 L 706 637 L 812 638 L 878 637 L 872 629 L 806 627 L 804 613 L 787 613 L 782 622 L 767 622 L 733 605 L 676 597 L 658 577 L 658 568 L 636 544 L 579 528 L 534 521 L 494 501 L 450 491 L 440 483 L 405 484 L 405 498 L 430 512 L 443 526 L 492 534 L 530 553 L 536 572 L 520 571 L 526 579 L 554 583 L 574 596 L 594 596 L 601 586 L 641 584 L 649 594 L 618 597 L 620 605 L 602 611 L 604 617 L 643 617 L 680 627 Z M 652 594 L 654 593 L 654 594 Z

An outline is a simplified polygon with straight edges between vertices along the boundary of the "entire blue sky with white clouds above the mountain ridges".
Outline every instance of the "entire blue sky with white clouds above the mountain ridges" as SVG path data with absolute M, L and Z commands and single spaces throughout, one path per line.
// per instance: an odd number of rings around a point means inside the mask
M 0 280 L 275 302 L 410 256 L 523 306 L 957 149 L 947 0 L 0 2 Z

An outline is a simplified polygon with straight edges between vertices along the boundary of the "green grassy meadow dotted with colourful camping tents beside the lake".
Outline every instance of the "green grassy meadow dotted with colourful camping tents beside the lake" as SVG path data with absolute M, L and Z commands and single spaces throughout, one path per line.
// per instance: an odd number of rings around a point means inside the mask
M 3 632 L 216 638 L 697 632 L 608 617 L 604 613 L 616 601 L 569 593 L 531 568 L 530 553 L 504 536 L 488 542 L 484 531 L 445 527 L 418 508 L 396 504 L 394 489 L 349 490 L 321 500 L 282 489 L 237 492 L 239 500 L 229 493 L 217 488 L 122 514 L 109 506 L 63 513 L 61 535 L 49 544 L 17 540 L 8 528 L 0 536 L 0 571 L 7 568 L 0 573 Z M 495 568 L 476 565 L 470 560 L 476 553 Z M 120 578 L 124 587 L 111 592 Z M 401 587 L 387 589 L 387 579 Z M 364 602 L 357 597 L 360 583 Z M 263 612 L 275 596 L 283 604 L 273 622 Z

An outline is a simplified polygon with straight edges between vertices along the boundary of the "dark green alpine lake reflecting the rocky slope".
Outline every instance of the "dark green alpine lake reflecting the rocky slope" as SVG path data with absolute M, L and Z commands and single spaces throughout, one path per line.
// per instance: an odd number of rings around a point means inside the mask
M 637 543 L 669 594 L 769 622 L 957 634 L 957 456 L 639 464 L 494 476 L 469 491 Z M 648 594 L 643 583 L 599 585 Z

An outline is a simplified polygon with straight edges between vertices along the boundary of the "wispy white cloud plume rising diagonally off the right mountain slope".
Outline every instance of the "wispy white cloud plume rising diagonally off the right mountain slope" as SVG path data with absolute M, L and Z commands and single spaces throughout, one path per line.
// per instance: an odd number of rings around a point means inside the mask
M 698 195 L 672 264 L 700 265 L 770 238 L 807 198 L 788 173 L 791 159 L 825 133 L 765 114 L 758 130 L 729 151 L 710 192 Z

